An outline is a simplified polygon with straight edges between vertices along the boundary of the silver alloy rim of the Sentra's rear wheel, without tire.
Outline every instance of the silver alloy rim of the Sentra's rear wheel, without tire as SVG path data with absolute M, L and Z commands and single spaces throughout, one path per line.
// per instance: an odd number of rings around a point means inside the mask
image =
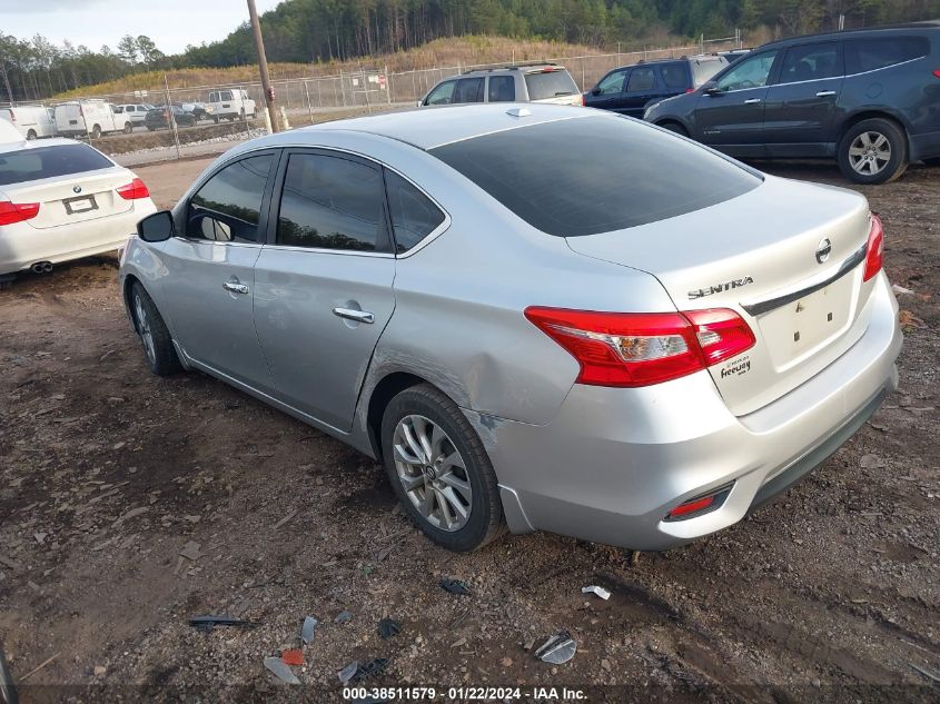
M 395 469 L 405 495 L 435 528 L 463 528 L 473 507 L 473 488 L 464 458 L 433 420 L 405 416 L 392 437 Z

